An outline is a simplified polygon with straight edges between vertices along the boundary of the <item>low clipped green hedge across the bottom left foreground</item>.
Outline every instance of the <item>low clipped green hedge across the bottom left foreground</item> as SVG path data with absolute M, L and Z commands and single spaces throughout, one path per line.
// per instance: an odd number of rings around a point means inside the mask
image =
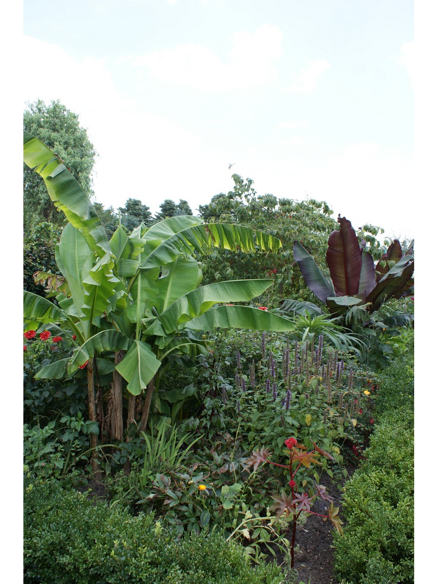
M 152 515 L 109 509 L 87 493 L 28 474 L 24 498 L 25 584 L 280 584 L 278 566 L 254 568 L 224 538 L 177 540 Z

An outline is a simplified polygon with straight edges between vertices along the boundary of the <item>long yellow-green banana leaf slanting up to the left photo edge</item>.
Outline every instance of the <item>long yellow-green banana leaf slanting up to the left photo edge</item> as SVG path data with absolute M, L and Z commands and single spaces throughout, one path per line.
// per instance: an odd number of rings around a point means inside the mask
M 88 195 L 64 162 L 43 142 L 23 130 L 23 158 L 46 183 L 48 196 L 67 220 L 81 230 L 90 249 L 99 256 L 110 251 L 108 238 Z

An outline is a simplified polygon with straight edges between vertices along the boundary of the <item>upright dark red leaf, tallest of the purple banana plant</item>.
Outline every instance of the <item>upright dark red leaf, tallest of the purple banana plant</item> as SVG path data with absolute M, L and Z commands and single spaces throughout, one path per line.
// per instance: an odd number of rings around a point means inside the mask
M 360 246 L 350 221 L 338 217 L 338 223 L 340 229 L 332 231 L 329 237 L 326 260 L 335 296 L 355 296 L 362 266 Z

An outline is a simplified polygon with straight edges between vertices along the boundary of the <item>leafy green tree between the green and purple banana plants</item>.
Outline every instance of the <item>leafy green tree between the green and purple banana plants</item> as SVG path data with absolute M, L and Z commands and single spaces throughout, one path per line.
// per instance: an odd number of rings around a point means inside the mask
M 257 195 L 251 179 L 235 174 L 234 189 L 217 194 L 211 202 L 199 207 L 201 217 L 208 222 L 227 221 L 248 225 L 278 237 L 283 244 L 278 251 L 266 256 L 244 255 L 233 251 L 212 251 L 203 260 L 206 283 L 221 279 L 245 277 L 272 277 L 274 287 L 260 298 L 269 307 L 280 297 L 294 296 L 310 300 L 310 291 L 304 284 L 298 266 L 293 261 L 293 242 L 303 242 L 322 262 L 322 252 L 336 222 L 333 211 L 324 201 L 314 199 L 294 201 L 277 199 L 272 194 Z M 257 274 L 257 275 L 255 275 Z

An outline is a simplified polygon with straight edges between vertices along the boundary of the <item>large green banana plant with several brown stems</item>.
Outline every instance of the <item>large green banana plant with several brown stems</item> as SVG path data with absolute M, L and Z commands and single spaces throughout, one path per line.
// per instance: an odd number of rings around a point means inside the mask
M 24 307 L 27 329 L 47 323 L 62 325 L 65 335 L 71 339 L 75 335 L 75 349 L 70 359 L 51 364 L 37 375 L 73 376 L 86 363 L 89 417 L 96 419 L 93 364 L 99 367 L 104 361 L 106 370 L 111 366 L 114 371 L 113 390 L 120 390 L 121 377 L 131 395 L 147 390 L 145 427 L 154 378 L 162 363 L 175 353 L 202 350 L 196 335 L 190 333 L 200 330 L 196 319 L 217 303 L 249 301 L 272 284 L 272 280 L 240 280 L 199 287 L 202 275 L 195 253 L 212 247 L 277 251 L 281 243 L 261 231 L 234 224 L 204 224 L 199 217 L 184 215 L 150 228 L 141 224 L 129 236 L 119 226 L 108 240 L 91 201 L 64 162 L 26 131 L 24 160 L 42 176 L 51 200 L 69 221 L 55 254 L 65 279 L 58 286 L 58 306 L 25 292 Z M 280 317 L 269 312 L 235 309 L 241 315 L 228 326 L 259 330 L 280 326 Z M 283 321 L 282 330 L 293 327 L 287 319 Z M 113 362 L 108 364 L 108 359 Z M 120 416 L 121 391 L 112 394 L 112 401 L 117 402 Z M 129 418 L 133 418 L 133 408 L 128 411 L 128 423 Z

